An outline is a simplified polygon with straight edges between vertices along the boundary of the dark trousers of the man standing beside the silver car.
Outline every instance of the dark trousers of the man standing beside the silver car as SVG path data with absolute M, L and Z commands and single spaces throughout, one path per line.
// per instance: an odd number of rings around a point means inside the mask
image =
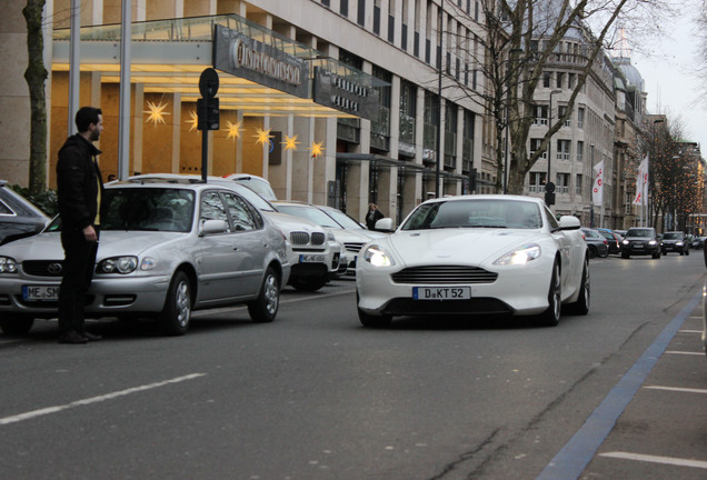
M 59 332 L 82 333 L 86 292 L 93 277 L 98 242 L 89 242 L 81 230 L 70 229 L 61 231 L 61 246 L 64 260 L 59 289 Z

